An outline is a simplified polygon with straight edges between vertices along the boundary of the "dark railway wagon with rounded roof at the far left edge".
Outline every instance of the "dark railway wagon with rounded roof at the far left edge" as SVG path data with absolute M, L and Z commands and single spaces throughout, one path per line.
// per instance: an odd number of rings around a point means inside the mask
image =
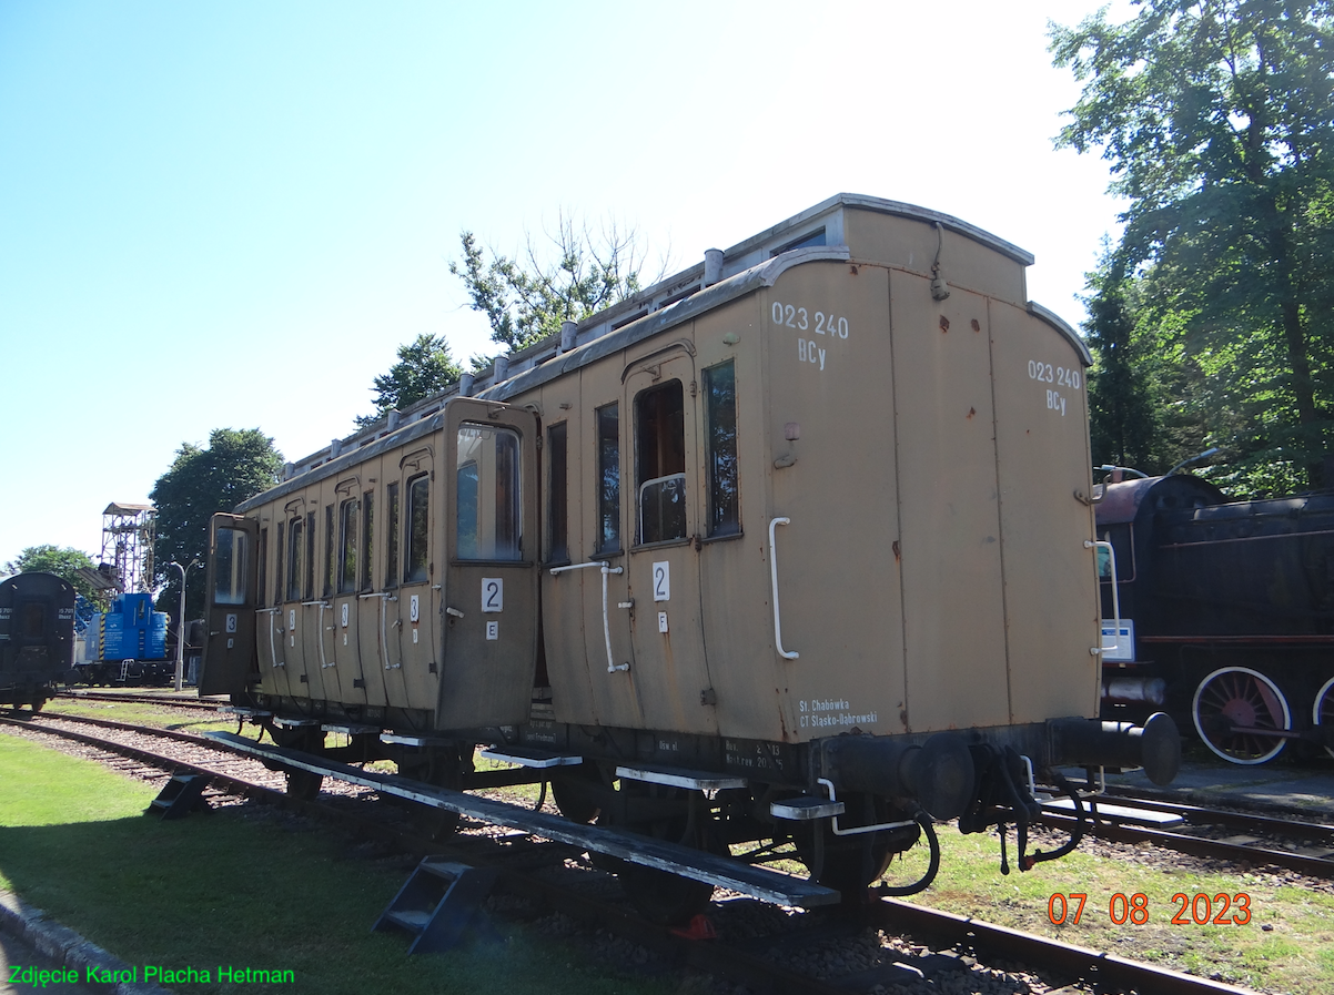
M 0 582 L 0 704 L 33 711 L 73 667 L 75 590 L 53 574 Z

